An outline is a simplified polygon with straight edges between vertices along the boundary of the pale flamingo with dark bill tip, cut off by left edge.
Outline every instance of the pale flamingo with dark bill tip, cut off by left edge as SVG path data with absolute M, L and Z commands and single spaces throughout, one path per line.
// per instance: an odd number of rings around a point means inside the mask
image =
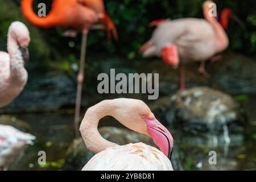
M 0 108 L 10 104 L 27 83 L 30 33 L 21 22 L 13 22 L 8 31 L 6 52 L 0 51 Z

